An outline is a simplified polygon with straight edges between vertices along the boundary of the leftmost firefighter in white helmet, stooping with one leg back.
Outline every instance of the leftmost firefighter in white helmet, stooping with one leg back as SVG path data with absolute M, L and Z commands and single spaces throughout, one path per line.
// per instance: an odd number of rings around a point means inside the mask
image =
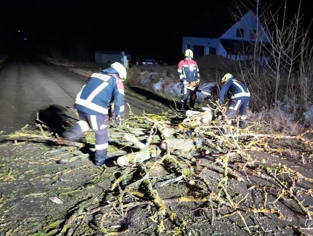
M 80 89 L 74 108 L 78 110 L 79 121 L 63 137 L 78 142 L 85 131 L 91 128 L 95 132 L 95 164 L 103 165 L 107 159 L 109 130 L 108 109 L 114 102 L 115 121 L 120 124 L 124 112 L 125 67 L 114 62 L 110 68 L 91 75 Z

